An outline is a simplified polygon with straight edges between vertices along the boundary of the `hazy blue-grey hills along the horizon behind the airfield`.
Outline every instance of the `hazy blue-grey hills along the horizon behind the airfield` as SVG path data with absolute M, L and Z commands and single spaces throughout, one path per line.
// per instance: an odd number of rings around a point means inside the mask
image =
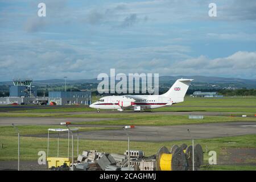
M 256 88 L 256 80 L 242 79 L 242 78 L 225 78 L 225 77 L 208 77 L 208 76 L 160 76 L 160 86 L 171 86 L 175 80 L 179 78 L 193 78 L 192 86 L 205 86 L 205 87 L 233 87 L 233 88 Z M 80 85 L 86 83 L 97 83 L 97 78 L 81 79 L 81 80 L 67 80 L 68 85 Z M 51 80 L 35 80 L 32 83 L 35 86 L 44 85 L 64 85 L 63 79 Z M 13 85 L 11 81 L 0 82 L 0 85 Z

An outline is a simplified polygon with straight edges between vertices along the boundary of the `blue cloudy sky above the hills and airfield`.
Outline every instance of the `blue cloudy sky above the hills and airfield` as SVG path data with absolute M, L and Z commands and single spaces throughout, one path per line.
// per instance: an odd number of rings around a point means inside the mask
M 256 79 L 255 30 L 253 0 L 0 0 L 0 81 L 95 78 L 110 68 Z

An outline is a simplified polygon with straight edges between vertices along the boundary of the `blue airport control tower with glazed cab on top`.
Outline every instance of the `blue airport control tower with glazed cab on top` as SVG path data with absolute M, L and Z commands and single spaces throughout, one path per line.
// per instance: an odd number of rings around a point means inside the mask
M 37 92 L 32 89 L 32 79 L 15 78 L 10 86 L 10 97 L 36 97 Z

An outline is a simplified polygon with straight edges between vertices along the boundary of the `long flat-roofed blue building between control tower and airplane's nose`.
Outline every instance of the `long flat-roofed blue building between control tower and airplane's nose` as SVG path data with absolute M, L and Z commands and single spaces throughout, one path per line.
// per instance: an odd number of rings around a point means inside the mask
M 90 105 L 92 103 L 92 92 L 49 92 L 48 104 L 51 102 L 56 105 Z

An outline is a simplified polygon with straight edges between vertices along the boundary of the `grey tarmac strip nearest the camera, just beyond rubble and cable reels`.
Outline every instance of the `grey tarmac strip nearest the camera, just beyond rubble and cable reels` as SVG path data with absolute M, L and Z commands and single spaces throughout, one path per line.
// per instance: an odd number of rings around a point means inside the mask
M 187 131 L 189 129 L 193 138 L 196 139 L 231 137 L 256 134 L 255 124 L 255 122 L 231 122 L 179 126 L 137 126 L 135 129 L 129 130 L 129 135 L 133 141 L 168 142 L 191 139 Z M 127 136 L 121 127 L 120 130 L 87 131 L 80 132 L 79 135 L 82 139 L 90 140 L 127 140 Z M 32 136 L 47 137 L 43 134 Z M 62 137 L 67 136 L 62 135 Z

